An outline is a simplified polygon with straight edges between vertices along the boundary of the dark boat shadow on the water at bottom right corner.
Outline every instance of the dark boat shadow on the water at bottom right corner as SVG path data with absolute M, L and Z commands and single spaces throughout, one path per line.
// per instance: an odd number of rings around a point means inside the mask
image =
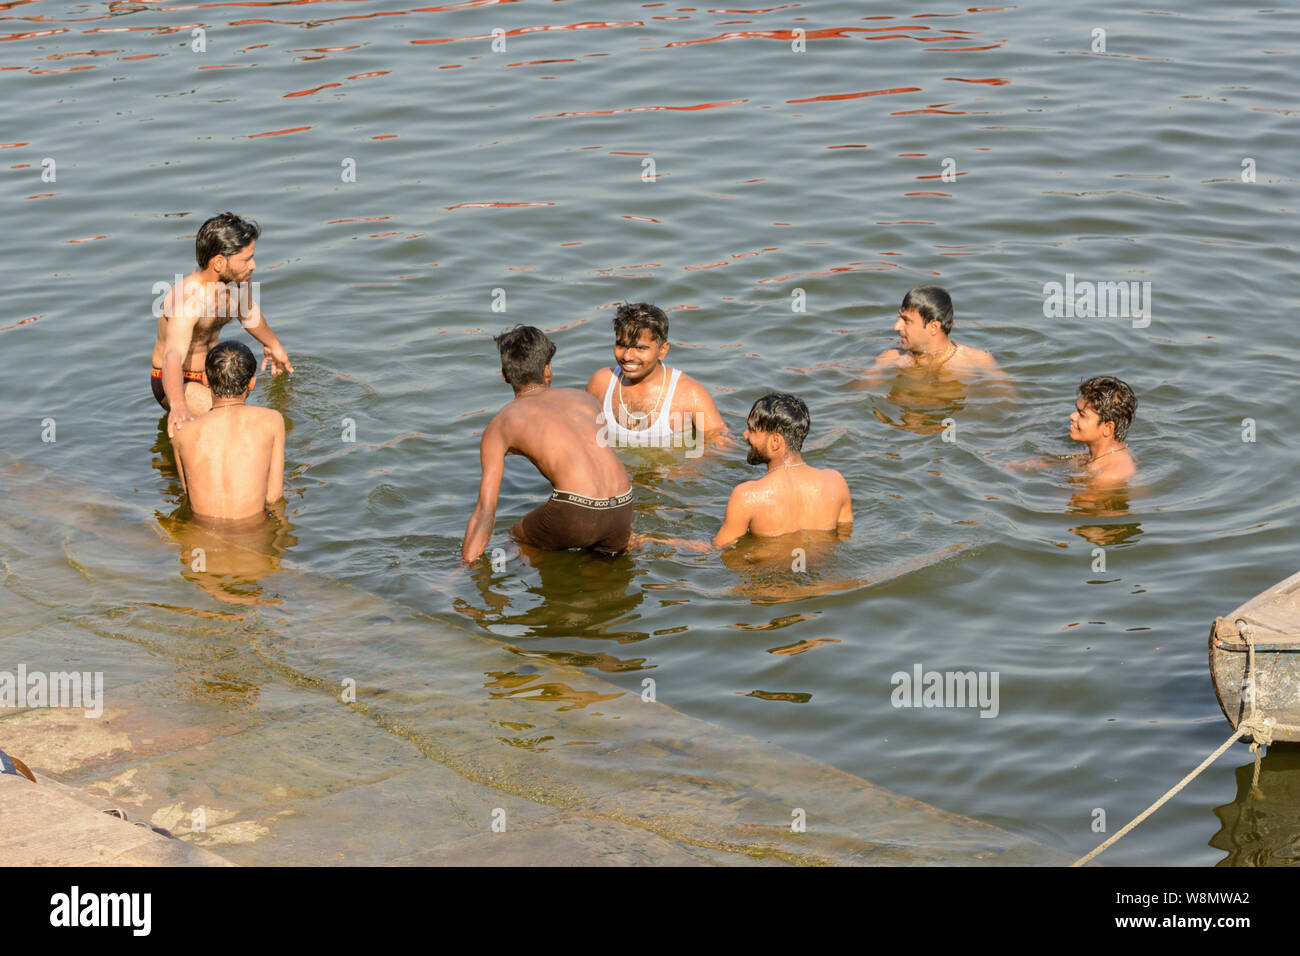
M 1222 826 L 1209 845 L 1226 856 L 1218 866 L 1288 866 L 1300 864 L 1300 747 L 1274 744 L 1260 762 L 1236 769 L 1236 797 L 1214 808 Z

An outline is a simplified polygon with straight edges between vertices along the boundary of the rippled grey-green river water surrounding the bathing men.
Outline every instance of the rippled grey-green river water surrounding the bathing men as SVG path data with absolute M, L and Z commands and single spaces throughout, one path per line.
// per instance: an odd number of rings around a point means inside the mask
M 296 369 L 255 393 L 291 428 L 286 525 L 246 549 L 274 561 L 181 568 L 196 607 L 273 601 L 287 562 L 1083 853 L 1096 808 L 1113 831 L 1228 735 L 1209 623 L 1296 570 L 1297 51 L 1294 12 L 1205 0 L 3 4 L 0 441 L 198 533 L 144 381 L 150 304 L 233 209 L 264 228 L 261 306 Z M 1048 317 L 1067 273 L 1149 282 L 1149 325 Z M 863 388 L 928 282 L 1014 398 Z M 621 300 L 670 311 L 668 363 L 736 432 L 766 392 L 807 402 L 849 541 L 458 570 L 510 398 L 490 336 L 547 329 L 554 384 L 581 388 Z M 1139 395 L 1130 492 L 1011 470 L 1071 450 L 1098 373 Z M 712 536 L 755 476 L 737 449 L 624 459 L 651 536 Z M 510 462 L 494 546 L 543 493 Z M 329 619 L 318 600 L 300 613 Z M 382 622 L 358 640 L 412 693 L 445 665 Z M 996 671 L 997 717 L 894 708 L 915 665 Z M 1275 749 L 1286 801 L 1300 769 Z M 1300 823 L 1230 825 L 1249 762 L 1231 750 L 1104 860 L 1295 861 Z

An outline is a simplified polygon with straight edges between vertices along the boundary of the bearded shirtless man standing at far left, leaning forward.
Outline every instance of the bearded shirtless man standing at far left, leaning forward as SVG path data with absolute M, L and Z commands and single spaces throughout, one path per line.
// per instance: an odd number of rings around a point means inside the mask
M 260 234 L 256 224 L 231 212 L 209 219 L 194 238 L 199 268 L 156 304 L 159 326 L 150 385 L 153 398 L 168 411 L 168 437 L 212 406 L 212 392 L 204 382 L 204 360 L 217 343 L 221 328 L 235 316 L 265 347 L 263 369 L 270 363 L 272 375 L 294 371 L 255 297 L 248 294 L 248 280 L 257 268 L 254 245 Z M 235 284 L 234 295 L 228 282 Z

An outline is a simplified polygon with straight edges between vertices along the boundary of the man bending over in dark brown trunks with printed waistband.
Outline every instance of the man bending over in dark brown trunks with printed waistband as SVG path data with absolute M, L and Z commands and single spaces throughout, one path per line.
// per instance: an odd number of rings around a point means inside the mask
M 478 503 L 465 527 L 462 561 L 476 561 L 491 540 L 506 455 L 524 455 L 555 489 L 510 529 L 515 538 L 543 550 L 625 550 L 632 536 L 632 481 L 614 449 L 597 437 L 601 403 L 578 389 L 551 388 L 555 345 L 541 329 L 516 325 L 493 341 L 500 350 L 500 377 L 515 389 L 515 401 L 484 429 Z

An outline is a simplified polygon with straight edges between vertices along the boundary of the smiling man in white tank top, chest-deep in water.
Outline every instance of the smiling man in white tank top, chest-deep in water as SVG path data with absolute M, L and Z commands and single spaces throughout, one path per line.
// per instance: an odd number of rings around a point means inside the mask
M 586 390 L 602 402 L 602 425 L 615 447 L 702 447 L 728 436 L 708 389 L 668 355 L 668 316 L 647 302 L 619 306 L 614 316 L 612 368 L 602 368 Z

